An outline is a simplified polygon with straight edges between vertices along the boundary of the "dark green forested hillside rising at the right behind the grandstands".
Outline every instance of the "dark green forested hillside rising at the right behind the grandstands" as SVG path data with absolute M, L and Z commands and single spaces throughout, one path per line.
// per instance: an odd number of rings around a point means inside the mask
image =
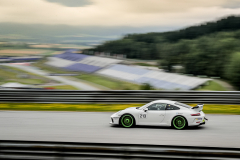
M 240 89 L 240 17 L 164 33 L 129 34 L 92 49 L 125 54 L 127 58 L 159 59 L 160 67 L 172 71 L 183 65 L 186 74 L 217 76 Z

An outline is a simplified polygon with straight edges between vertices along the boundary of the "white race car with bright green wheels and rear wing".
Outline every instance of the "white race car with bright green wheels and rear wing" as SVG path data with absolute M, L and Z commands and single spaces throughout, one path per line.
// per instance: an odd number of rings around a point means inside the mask
M 126 128 L 134 125 L 156 125 L 184 129 L 187 126 L 205 124 L 207 118 L 202 109 L 203 104 L 191 107 L 176 101 L 156 100 L 142 107 L 130 107 L 114 113 L 110 124 Z

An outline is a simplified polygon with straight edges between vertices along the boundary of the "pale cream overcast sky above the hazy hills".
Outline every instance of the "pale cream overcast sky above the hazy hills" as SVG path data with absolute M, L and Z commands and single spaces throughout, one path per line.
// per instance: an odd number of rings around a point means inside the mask
M 0 0 L 0 23 L 177 28 L 240 14 L 240 0 Z

